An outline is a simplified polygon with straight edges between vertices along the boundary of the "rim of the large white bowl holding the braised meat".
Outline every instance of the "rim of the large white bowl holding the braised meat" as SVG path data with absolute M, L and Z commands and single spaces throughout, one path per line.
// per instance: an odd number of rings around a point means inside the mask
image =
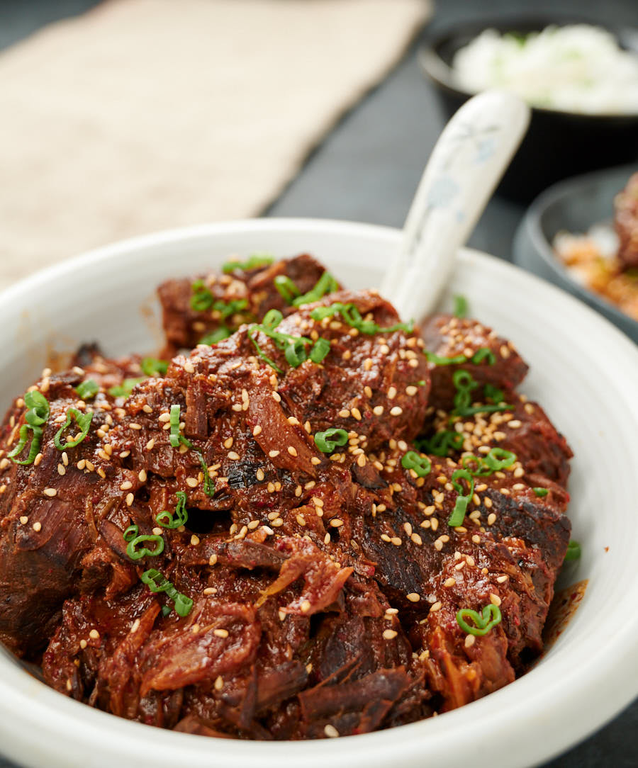
M 0 300 L 3 300 L 3 304 L 8 300 L 18 301 L 21 297 L 28 296 L 35 286 L 46 286 L 53 277 L 64 278 L 75 272 L 78 267 L 87 270 L 95 263 L 106 260 L 128 259 L 131 253 L 140 252 L 145 248 L 184 243 L 202 237 L 213 238 L 228 233 L 238 233 L 241 237 L 248 232 L 311 233 L 311 237 L 328 233 L 352 239 L 368 237 L 381 240 L 388 247 L 397 247 L 400 241 L 400 230 L 347 221 L 271 218 L 204 224 L 165 230 L 91 250 L 10 286 L 0 293 Z M 598 329 L 599 333 L 606 336 L 606 354 L 617 354 L 618 359 L 623 359 L 626 372 L 634 377 L 633 380 L 638 378 L 638 350 L 633 343 L 615 326 L 572 296 L 510 263 L 480 251 L 461 250 L 460 260 L 470 266 L 474 263 L 477 269 L 487 270 L 497 277 L 505 276 L 518 282 L 523 280 L 527 286 L 533 286 L 540 292 L 541 297 L 560 299 L 567 306 L 567 310 L 577 314 L 584 329 Z M 638 423 L 638 403 L 635 406 L 632 404 L 632 408 L 633 417 Z M 629 607 L 629 604 L 627 597 L 622 605 Z M 526 745 L 533 750 L 531 759 L 547 760 L 601 727 L 630 703 L 636 695 L 636 681 L 632 675 L 626 674 L 626 669 L 628 665 L 630 669 L 638 667 L 636 631 L 638 614 L 628 618 L 623 626 L 618 627 L 617 631 L 610 635 L 605 647 L 596 649 L 596 665 L 593 667 L 595 674 L 586 677 L 574 671 L 573 674 L 560 679 L 549 680 L 547 687 L 534 684 L 531 675 L 517 680 L 518 690 L 522 695 L 510 702 L 510 706 L 504 709 L 501 707 L 499 712 L 500 725 L 503 726 L 499 738 L 505 748 L 510 750 L 507 763 L 499 760 L 494 763 L 499 766 L 507 765 L 508 768 L 529 764 L 530 757 L 520 754 L 521 733 L 527 736 Z M 180 761 L 183 763 L 184 756 L 197 759 L 202 766 L 216 766 L 220 759 L 228 757 L 240 766 L 254 766 L 259 763 L 264 768 L 274 768 L 282 764 L 291 765 L 293 760 L 304 760 L 307 768 L 318 768 L 324 766 L 326 760 L 333 760 L 335 765 L 361 764 L 361 758 L 365 756 L 371 768 L 382 768 L 390 761 L 402 764 L 407 760 L 414 762 L 415 759 L 420 759 L 423 755 L 423 744 L 420 740 L 424 738 L 429 740 L 428 746 L 436 744 L 441 754 L 450 752 L 450 740 L 458 749 L 463 745 L 468 750 L 474 749 L 481 740 L 487 748 L 490 743 L 485 742 L 486 729 L 490 729 L 491 717 L 497 703 L 503 700 L 499 694 L 513 689 L 513 686 L 507 686 L 441 717 L 401 726 L 400 731 L 388 729 L 357 737 L 304 743 L 215 740 L 213 752 L 209 739 L 174 731 L 151 730 L 141 723 L 123 720 L 67 697 L 61 697 L 54 690 L 26 675 L 17 665 L 10 663 L 5 653 L 0 654 L 0 668 L 3 670 L 0 675 L 2 741 L 6 743 L 8 733 L 14 737 L 19 734 L 22 743 L 31 744 L 35 750 L 35 757 L 30 759 L 29 764 L 38 766 L 44 763 L 52 768 L 66 768 L 71 764 L 68 761 L 71 752 L 75 756 L 85 757 L 89 750 L 95 750 L 97 744 L 105 754 L 111 755 L 113 762 L 118 760 L 121 766 L 136 765 L 140 760 L 148 761 L 148 757 L 152 755 L 157 758 L 155 762 L 161 768 L 174 766 L 176 760 L 178 764 Z M 601 687 L 607 694 L 604 703 L 600 697 Z M 525 691 L 527 696 L 523 695 Z M 504 698 L 509 701 L 511 696 Z M 596 707 L 583 708 L 583 700 L 586 699 L 595 701 Z M 530 722 L 533 720 L 537 724 L 545 723 L 546 727 L 549 727 L 552 718 L 544 713 L 548 701 L 557 710 L 567 708 L 573 713 L 579 713 L 579 717 L 568 720 L 563 732 L 551 735 L 547 733 L 546 738 L 540 740 Z M 15 713 L 20 713 L 18 718 Z M 8 715 L 12 716 L 11 723 L 8 723 Z M 54 743 L 60 745 L 62 737 L 62 743 L 55 754 L 47 753 L 42 746 L 35 744 L 35 733 L 39 733 L 38 744 L 42 743 L 42 737 L 45 737 L 45 746 Z M 105 735 L 112 738 L 105 740 Z M 151 737 L 150 740 L 148 737 Z M 124 746 L 118 746 L 118 740 L 125 743 L 126 759 L 122 759 Z M 17 759 L 24 760 L 23 756 L 15 752 L 13 754 Z M 73 764 L 78 763 L 74 761 Z

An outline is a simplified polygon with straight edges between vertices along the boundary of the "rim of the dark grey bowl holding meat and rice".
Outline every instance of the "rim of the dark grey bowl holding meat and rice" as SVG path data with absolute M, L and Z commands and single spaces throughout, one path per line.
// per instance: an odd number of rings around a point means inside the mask
M 604 179 L 613 173 L 619 175 L 626 173 L 626 178 L 628 179 L 631 174 L 638 173 L 638 161 L 635 163 L 603 168 L 602 170 L 593 170 L 586 174 L 579 174 L 578 176 L 571 176 L 567 179 L 557 181 L 556 184 L 547 187 L 546 190 L 543 190 L 543 192 L 532 201 L 532 204 L 527 209 L 519 227 L 522 230 L 527 230 L 527 234 L 533 247 L 543 259 L 543 263 L 545 263 L 553 273 L 557 273 L 558 276 L 572 286 L 577 293 L 586 294 L 587 300 L 593 303 L 600 312 L 610 315 L 613 318 L 614 323 L 623 323 L 623 325 L 635 327 L 636 333 L 638 333 L 638 320 L 627 315 L 623 310 L 620 310 L 616 304 L 603 299 L 602 296 L 594 293 L 593 290 L 590 290 L 590 288 L 574 279 L 570 270 L 560 262 L 556 253 L 554 253 L 552 244 L 547 240 L 547 237 L 545 237 L 541 224 L 543 214 L 545 214 L 551 205 L 557 203 L 561 199 L 577 197 L 582 187 L 595 185 L 599 180 Z M 620 192 L 621 190 L 619 189 L 618 191 Z M 613 210 L 610 210 L 610 214 L 613 214 Z M 590 227 L 593 227 L 598 223 L 601 222 L 593 221 L 590 223 Z M 517 239 L 518 237 L 516 236 L 515 240 Z

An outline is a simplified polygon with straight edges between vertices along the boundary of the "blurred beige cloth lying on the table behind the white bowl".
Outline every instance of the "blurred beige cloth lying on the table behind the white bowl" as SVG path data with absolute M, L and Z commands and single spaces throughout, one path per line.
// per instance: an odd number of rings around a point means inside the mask
M 258 214 L 400 59 L 427 0 L 108 0 L 0 55 L 0 288 Z

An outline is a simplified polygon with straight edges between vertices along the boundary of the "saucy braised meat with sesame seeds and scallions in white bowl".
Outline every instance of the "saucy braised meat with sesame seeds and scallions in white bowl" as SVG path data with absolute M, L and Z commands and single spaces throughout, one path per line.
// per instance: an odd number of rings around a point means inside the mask
M 416 329 L 307 255 L 159 293 L 172 359 L 85 346 L 5 417 L 5 645 L 93 707 L 244 739 L 393 727 L 523 674 L 577 547 L 572 453 L 513 344 Z

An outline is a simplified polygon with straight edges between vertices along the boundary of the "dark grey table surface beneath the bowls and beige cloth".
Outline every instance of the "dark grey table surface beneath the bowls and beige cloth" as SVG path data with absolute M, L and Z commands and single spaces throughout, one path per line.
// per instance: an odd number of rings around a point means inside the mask
M 0 0 L 0 48 L 56 18 L 97 5 L 95 0 Z M 638 25 L 636 0 L 440 0 L 433 25 L 457 18 L 531 11 L 581 12 L 606 24 Z M 307 159 L 297 178 L 264 212 L 267 216 L 334 218 L 400 227 L 444 118 L 424 81 L 413 45 L 380 86 L 347 114 Z M 470 245 L 511 260 L 519 204 L 494 197 Z M 630 672 L 630 670 L 628 670 Z M 588 706 L 583 702 L 583 707 Z M 2 744 L 0 744 L 2 753 Z M 613 722 L 543 768 L 636 768 L 638 701 Z M 0 756 L 0 768 L 16 768 Z M 47 768 L 47 766 L 39 766 Z

